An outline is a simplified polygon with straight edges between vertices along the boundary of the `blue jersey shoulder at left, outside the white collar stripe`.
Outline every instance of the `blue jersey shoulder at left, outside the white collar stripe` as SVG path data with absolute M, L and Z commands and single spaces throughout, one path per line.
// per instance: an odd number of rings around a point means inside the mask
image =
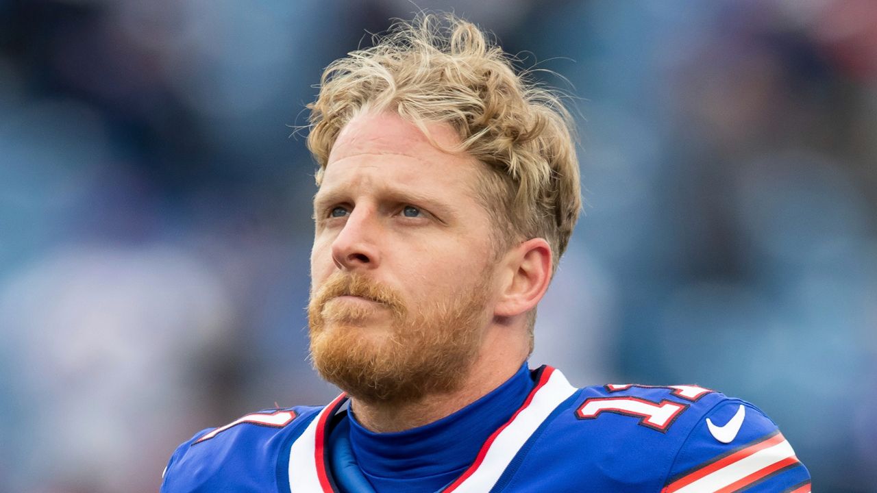
M 216 491 L 232 484 L 240 485 L 235 491 L 266 489 L 266 483 L 275 481 L 285 444 L 296 439 L 321 409 L 268 409 L 197 432 L 168 461 L 161 493 Z

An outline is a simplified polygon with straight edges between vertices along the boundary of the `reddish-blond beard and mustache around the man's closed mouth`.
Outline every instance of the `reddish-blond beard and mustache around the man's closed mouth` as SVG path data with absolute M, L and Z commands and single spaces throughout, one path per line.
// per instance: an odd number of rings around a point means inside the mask
M 345 289 L 320 289 L 309 305 L 314 368 L 324 380 L 363 401 L 415 402 L 459 389 L 490 319 L 490 276 L 479 279 L 452 296 L 419 304 L 417 311 L 401 303 L 337 299 L 337 292 L 368 295 L 364 288 L 339 284 Z M 396 298 L 371 294 L 373 299 Z

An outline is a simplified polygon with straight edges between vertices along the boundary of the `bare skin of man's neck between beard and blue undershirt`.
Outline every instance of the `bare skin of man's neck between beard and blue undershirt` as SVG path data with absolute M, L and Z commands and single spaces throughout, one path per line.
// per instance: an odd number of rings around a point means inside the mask
M 370 402 L 351 399 L 356 419 L 371 432 L 403 432 L 428 425 L 460 411 L 517 373 L 528 351 L 497 351 L 484 344 L 474 364 L 465 371 L 458 390 L 426 395 L 414 402 Z M 488 349 L 484 349 L 488 348 Z

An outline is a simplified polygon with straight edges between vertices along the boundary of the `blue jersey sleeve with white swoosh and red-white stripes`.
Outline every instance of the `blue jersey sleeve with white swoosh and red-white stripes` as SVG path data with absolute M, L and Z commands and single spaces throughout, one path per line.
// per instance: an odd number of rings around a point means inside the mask
M 676 455 L 661 493 L 809 493 L 810 475 L 774 422 L 729 399 L 708 411 Z

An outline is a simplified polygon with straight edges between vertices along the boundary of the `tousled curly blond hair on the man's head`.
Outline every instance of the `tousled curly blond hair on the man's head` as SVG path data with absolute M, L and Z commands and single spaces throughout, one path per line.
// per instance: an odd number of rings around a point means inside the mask
M 396 111 L 427 137 L 426 122 L 446 123 L 461 143 L 445 150 L 487 165 L 479 198 L 500 213 L 497 250 L 544 238 L 556 269 L 581 211 L 574 123 L 559 96 L 528 78 L 466 20 L 420 14 L 396 23 L 323 73 L 308 104 L 317 185 L 339 132 L 361 111 Z

